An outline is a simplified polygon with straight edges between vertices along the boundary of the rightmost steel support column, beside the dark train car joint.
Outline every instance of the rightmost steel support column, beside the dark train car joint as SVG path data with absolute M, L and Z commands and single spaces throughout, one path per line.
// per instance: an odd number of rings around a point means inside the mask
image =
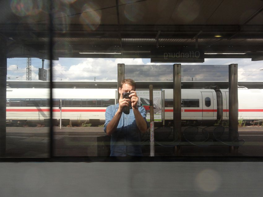
M 229 65 L 229 131 L 231 141 L 238 135 L 238 79 L 237 64 Z M 231 147 L 233 149 L 234 147 Z

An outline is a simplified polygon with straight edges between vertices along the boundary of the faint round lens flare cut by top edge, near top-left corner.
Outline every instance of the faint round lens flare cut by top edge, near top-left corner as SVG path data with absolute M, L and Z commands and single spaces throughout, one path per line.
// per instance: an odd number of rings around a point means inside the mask
M 18 16 L 36 15 L 42 10 L 41 0 L 11 0 L 12 12 Z

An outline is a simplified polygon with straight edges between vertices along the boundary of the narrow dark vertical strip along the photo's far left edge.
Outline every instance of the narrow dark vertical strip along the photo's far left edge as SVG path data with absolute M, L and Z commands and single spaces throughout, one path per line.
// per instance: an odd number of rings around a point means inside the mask
M 0 38 L 0 157 L 6 156 L 6 39 Z

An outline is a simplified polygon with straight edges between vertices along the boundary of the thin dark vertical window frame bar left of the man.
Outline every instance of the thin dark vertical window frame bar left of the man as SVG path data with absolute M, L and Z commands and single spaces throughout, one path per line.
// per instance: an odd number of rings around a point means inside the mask
M 50 52 L 50 157 L 54 157 L 54 132 L 53 132 L 53 78 L 52 78 L 52 67 L 53 67 L 53 34 L 54 34 L 54 24 L 53 24 L 53 3 L 52 0 L 50 3 L 50 12 L 49 12 L 49 52 Z

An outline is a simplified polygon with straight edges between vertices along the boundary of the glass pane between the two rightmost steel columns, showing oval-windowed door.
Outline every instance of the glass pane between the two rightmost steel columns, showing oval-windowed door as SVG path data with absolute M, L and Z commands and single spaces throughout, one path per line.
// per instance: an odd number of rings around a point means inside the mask
M 182 73 L 182 136 L 185 156 L 229 155 L 217 141 L 214 130 L 223 128 L 228 118 L 219 118 L 219 92 L 228 88 L 228 65 L 181 65 Z M 222 99 L 222 96 L 221 96 Z M 224 123 L 223 123 L 224 122 Z M 227 133 L 225 129 L 225 133 Z M 217 145 L 218 148 L 217 148 Z M 206 150 L 206 151 L 205 151 Z

